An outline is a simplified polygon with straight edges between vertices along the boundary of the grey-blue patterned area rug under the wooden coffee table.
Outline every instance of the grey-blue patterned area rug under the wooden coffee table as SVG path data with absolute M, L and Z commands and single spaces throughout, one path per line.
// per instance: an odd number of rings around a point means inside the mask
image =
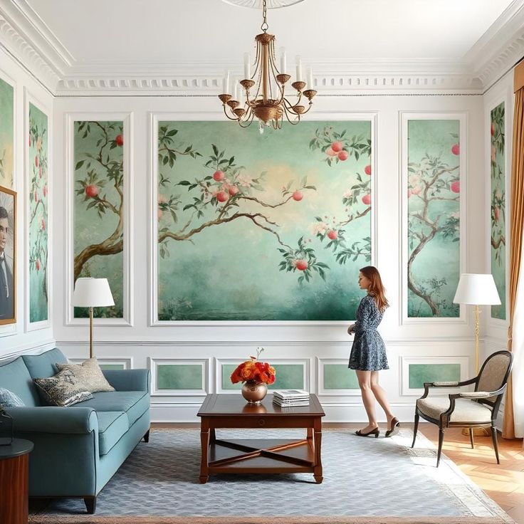
M 260 438 L 261 431 L 218 430 L 217 438 Z M 265 430 L 266 438 L 303 431 Z M 393 524 L 513 523 L 446 456 L 411 429 L 390 439 L 323 431 L 322 484 L 313 475 L 212 475 L 199 483 L 199 429 L 157 429 L 98 496 L 96 515 L 81 499 L 61 499 L 31 524 Z M 278 517 L 278 518 L 277 518 Z

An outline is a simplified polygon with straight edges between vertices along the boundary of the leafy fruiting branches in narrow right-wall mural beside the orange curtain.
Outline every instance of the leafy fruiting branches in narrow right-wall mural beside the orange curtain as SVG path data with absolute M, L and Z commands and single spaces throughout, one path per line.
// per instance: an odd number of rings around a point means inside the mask
M 504 105 L 491 111 L 491 246 L 495 260 L 503 263 L 502 247 L 505 246 L 505 190 L 503 166 L 497 162 L 497 154 L 504 154 Z M 502 160 L 503 162 L 503 160 Z

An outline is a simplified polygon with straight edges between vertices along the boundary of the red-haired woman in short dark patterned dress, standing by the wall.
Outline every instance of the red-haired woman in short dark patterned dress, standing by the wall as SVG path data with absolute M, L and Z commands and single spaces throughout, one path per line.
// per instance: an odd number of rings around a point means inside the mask
M 360 300 L 357 321 L 347 330 L 350 335 L 355 333 L 348 367 L 357 373 L 369 424 L 356 431 L 356 434 L 375 438 L 379 436 L 379 425 L 374 412 L 374 401 L 377 399 L 387 416 L 386 436 L 392 436 L 398 433 L 400 423 L 389 408 L 386 392 L 379 386 L 379 370 L 389 370 L 389 366 L 384 340 L 377 332 L 377 326 L 389 304 L 377 268 L 362 268 L 358 273 L 358 285 L 360 289 L 367 290 L 367 295 Z

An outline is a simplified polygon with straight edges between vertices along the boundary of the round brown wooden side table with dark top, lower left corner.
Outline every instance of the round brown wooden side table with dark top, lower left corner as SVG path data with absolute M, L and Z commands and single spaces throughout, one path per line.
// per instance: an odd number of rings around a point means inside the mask
M 33 443 L 13 439 L 0 446 L 0 523 L 27 524 L 29 508 L 29 454 Z

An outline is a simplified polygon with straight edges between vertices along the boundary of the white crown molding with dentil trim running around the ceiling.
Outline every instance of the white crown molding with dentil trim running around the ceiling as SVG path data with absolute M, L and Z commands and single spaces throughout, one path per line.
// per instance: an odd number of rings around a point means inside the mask
M 78 64 L 27 0 L 0 7 L 0 46 L 57 97 L 90 95 L 214 96 L 224 68 L 239 63 Z M 456 60 L 377 58 L 312 63 L 320 95 L 484 93 L 524 55 L 524 0 L 514 0 Z

